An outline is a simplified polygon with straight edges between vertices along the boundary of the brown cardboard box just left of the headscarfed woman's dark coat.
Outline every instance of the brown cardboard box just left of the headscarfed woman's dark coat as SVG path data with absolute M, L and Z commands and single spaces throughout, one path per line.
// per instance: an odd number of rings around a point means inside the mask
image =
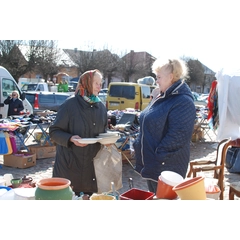
M 56 155 L 56 146 L 40 146 L 40 145 L 29 145 L 28 146 L 30 152 L 36 153 L 37 159 L 42 158 L 52 158 Z

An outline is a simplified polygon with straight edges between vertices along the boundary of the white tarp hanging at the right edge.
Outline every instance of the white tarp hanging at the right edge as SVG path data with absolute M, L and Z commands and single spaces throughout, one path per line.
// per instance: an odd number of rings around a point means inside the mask
M 219 127 L 217 140 L 240 138 L 240 71 L 216 74 Z

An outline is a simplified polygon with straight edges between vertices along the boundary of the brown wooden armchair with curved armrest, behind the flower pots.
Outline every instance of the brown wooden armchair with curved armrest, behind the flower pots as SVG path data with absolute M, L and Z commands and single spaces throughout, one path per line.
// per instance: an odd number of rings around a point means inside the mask
M 222 140 L 217 147 L 217 154 L 215 160 L 193 160 L 190 161 L 190 169 L 187 174 L 187 177 L 196 177 L 197 172 L 204 171 L 213 171 L 213 178 L 217 179 L 217 184 L 221 190 L 221 194 L 219 196 L 220 200 L 223 200 L 224 194 L 224 168 L 225 168 L 225 159 L 227 155 L 227 150 L 231 146 L 240 146 L 240 139 L 231 140 L 224 139 Z

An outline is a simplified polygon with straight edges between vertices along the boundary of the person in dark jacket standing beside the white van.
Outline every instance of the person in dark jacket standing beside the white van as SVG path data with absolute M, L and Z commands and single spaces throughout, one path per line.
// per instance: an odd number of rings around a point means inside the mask
M 4 104 L 9 105 L 8 116 L 20 115 L 20 112 L 24 109 L 18 91 L 13 91 L 12 94 L 4 100 Z

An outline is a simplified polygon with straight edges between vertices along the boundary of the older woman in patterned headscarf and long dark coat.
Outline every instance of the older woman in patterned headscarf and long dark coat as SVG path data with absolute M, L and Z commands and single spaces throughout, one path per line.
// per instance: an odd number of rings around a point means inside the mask
M 69 179 L 77 196 L 81 192 L 92 195 L 98 191 L 93 158 L 101 144 L 79 140 L 95 138 L 107 131 L 107 110 L 98 98 L 101 87 L 99 70 L 83 73 L 75 95 L 61 105 L 49 129 L 51 140 L 56 143 L 53 177 Z

